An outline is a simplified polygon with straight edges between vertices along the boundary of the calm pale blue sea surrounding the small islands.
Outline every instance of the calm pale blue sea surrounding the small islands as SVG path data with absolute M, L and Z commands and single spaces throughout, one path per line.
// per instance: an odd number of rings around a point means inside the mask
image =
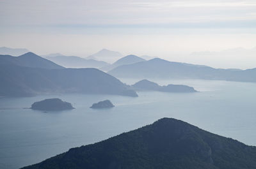
M 121 80 L 126 84 L 138 81 Z M 138 92 L 138 98 L 88 94 L 0 98 L 0 168 L 38 163 L 71 147 L 99 142 L 163 117 L 181 119 L 212 133 L 256 145 L 256 84 L 153 80 L 161 85 L 190 85 L 200 92 Z M 76 109 L 62 112 L 24 109 L 46 98 L 63 99 Z M 110 99 L 116 107 L 89 108 L 104 99 Z

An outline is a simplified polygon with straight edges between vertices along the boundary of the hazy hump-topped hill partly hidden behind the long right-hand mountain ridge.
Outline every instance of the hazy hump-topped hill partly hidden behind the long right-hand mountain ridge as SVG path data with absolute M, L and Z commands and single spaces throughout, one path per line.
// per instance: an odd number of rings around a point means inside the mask
M 141 57 L 138 57 L 136 55 L 127 55 L 125 57 L 122 57 L 121 59 L 118 59 L 116 62 L 114 62 L 113 64 L 111 64 L 109 66 L 104 66 L 104 67 L 100 68 L 100 70 L 109 71 L 109 70 L 112 70 L 113 68 L 116 68 L 121 65 L 133 64 L 136 62 L 143 62 L 143 61 L 146 61 L 146 60 L 142 59 Z

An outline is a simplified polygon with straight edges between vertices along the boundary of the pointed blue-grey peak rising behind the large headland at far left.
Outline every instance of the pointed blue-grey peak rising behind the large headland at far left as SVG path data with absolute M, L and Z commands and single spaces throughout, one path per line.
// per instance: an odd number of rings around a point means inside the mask
M 63 67 L 40 57 L 39 55 L 28 52 L 18 57 L 12 55 L 0 55 L 0 64 L 15 64 L 29 68 L 62 69 Z

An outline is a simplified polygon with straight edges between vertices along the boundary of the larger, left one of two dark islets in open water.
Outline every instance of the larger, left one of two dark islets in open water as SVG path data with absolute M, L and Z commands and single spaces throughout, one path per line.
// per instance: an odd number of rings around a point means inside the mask
M 62 101 L 58 98 L 44 99 L 42 101 L 36 101 L 31 105 L 33 110 L 45 110 L 45 111 L 60 111 L 60 110 L 71 110 L 74 109 L 71 103 Z

